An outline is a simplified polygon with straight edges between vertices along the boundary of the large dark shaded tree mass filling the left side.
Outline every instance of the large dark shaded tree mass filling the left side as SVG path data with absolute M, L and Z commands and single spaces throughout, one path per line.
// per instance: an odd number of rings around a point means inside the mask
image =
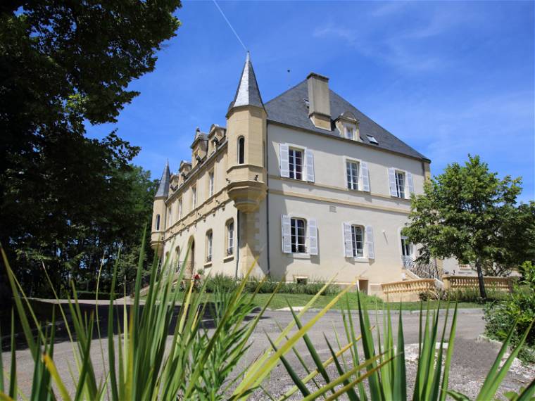
M 137 96 L 127 87 L 154 69 L 179 6 L 1 2 L 0 243 L 28 293 L 49 295 L 43 262 L 66 287 L 94 277 L 103 251 L 111 276 L 118 246 L 139 243 L 152 185 L 129 164 L 139 148 L 115 132 L 88 139 L 85 127 L 115 122 Z

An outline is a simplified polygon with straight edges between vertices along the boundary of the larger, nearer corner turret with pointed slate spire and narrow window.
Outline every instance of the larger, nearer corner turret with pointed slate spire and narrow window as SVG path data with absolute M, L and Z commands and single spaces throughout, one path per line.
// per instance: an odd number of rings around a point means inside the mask
M 244 70 L 227 113 L 229 197 L 241 212 L 253 212 L 265 198 L 266 118 L 251 58 L 247 52 Z

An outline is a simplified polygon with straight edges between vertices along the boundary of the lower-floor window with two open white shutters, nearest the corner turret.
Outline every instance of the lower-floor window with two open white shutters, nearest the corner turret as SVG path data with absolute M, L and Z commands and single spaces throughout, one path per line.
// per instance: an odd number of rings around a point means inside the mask
M 317 222 L 297 216 L 281 216 L 282 252 L 317 255 Z

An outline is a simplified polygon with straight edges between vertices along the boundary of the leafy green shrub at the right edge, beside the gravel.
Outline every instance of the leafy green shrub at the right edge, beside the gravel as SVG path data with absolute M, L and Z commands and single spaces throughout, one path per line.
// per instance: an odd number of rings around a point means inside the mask
M 517 329 L 512 336 L 513 345 L 519 343 L 522 334 L 535 319 L 535 267 L 531 262 L 525 262 L 520 270 L 523 276 L 520 283 L 515 284 L 512 294 L 505 302 L 486 307 L 484 317 L 486 334 L 497 340 L 506 338 L 510 327 L 517 321 Z M 535 362 L 535 328 L 527 333 L 526 348 L 521 356 Z

